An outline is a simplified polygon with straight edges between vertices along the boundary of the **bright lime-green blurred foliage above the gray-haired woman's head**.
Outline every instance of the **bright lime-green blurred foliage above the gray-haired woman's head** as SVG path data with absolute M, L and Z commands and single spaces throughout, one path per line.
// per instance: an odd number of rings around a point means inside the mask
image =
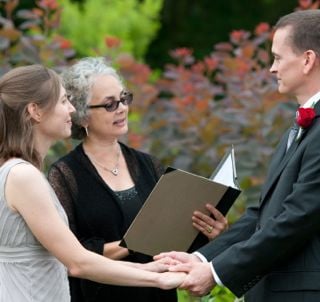
M 142 58 L 157 33 L 163 0 L 95 0 L 83 5 L 61 1 L 60 33 L 81 56 L 106 53 L 108 36 L 120 38 L 119 50 Z

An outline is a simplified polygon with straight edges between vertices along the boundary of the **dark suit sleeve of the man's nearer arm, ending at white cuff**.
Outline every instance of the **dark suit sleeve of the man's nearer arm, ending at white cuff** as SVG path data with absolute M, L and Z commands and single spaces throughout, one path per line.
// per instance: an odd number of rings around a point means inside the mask
M 225 245 L 226 249 L 222 252 L 221 247 L 219 254 L 209 254 L 222 283 L 237 296 L 250 289 L 274 266 L 285 263 L 290 257 L 301 252 L 305 244 L 319 234 L 319 136 L 319 130 L 313 131 L 312 135 L 306 138 L 308 140 L 303 142 L 302 151 L 299 151 L 301 154 L 297 162 L 294 162 L 298 171 L 290 193 L 283 200 L 271 197 L 268 201 L 281 205 L 281 211 L 268 217 L 267 223 L 249 238 L 239 240 L 229 247 Z M 283 179 L 283 183 L 285 181 Z

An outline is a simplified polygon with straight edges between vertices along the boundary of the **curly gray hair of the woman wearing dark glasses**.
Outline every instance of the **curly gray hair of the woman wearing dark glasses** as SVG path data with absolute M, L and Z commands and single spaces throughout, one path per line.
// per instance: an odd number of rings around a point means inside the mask
M 83 139 L 86 136 L 82 125 L 88 117 L 87 105 L 97 75 L 113 76 L 124 86 L 116 70 L 103 57 L 83 58 L 61 74 L 67 95 L 76 109 L 72 115 L 72 138 Z

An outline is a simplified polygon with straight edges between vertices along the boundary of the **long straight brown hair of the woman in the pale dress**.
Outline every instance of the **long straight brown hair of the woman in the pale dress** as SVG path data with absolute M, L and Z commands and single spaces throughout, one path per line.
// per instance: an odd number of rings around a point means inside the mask
M 60 77 L 42 65 L 17 67 L 0 78 L 0 158 L 23 158 L 41 168 L 27 106 L 51 109 L 59 99 Z

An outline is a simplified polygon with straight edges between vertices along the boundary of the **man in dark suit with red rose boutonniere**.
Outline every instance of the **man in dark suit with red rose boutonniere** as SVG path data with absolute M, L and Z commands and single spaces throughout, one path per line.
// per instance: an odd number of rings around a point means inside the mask
M 300 106 L 273 155 L 259 204 L 195 254 L 169 252 L 181 288 L 204 295 L 216 284 L 247 302 L 320 301 L 320 10 L 278 21 L 270 72 Z M 290 139 L 288 141 L 288 138 Z

